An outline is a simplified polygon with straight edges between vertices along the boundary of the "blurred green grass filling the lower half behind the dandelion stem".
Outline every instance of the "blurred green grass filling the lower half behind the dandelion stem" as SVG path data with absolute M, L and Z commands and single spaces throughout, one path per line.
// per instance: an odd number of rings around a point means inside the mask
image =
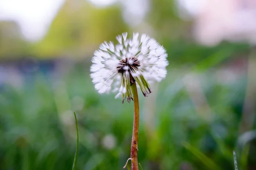
M 130 157 L 133 105 L 122 104 L 115 94 L 98 94 L 87 68 L 77 66 L 55 76 L 38 72 L 19 88 L 2 87 L 1 170 L 70 170 L 77 139 L 73 111 L 79 125 L 76 169 L 122 169 Z M 246 74 L 224 84 L 215 70 L 201 71 L 198 80 L 207 109 L 201 105 L 198 110 L 196 93 L 190 94 L 183 81 L 190 71 L 169 69 L 149 97 L 139 95 L 138 161 L 144 170 L 234 169 Z

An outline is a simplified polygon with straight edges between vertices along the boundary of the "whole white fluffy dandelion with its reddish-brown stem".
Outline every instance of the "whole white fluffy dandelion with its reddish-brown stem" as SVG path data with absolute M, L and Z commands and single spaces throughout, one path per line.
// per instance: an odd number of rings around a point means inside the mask
M 165 48 L 146 34 L 117 35 L 118 44 L 103 42 L 94 52 L 91 78 L 96 90 L 102 93 L 115 92 L 122 102 L 134 100 L 134 126 L 131 143 L 132 170 L 138 170 L 137 146 L 139 133 L 139 100 L 137 87 L 144 96 L 151 93 L 150 84 L 166 77 L 168 61 Z

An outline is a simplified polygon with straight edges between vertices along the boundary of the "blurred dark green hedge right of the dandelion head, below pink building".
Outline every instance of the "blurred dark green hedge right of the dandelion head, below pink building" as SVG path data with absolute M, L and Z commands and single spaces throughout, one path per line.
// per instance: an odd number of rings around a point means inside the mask
M 231 57 L 248 54 L 250 51 L 250 45 L 246 43 L 222 42 L 214 47 L 206 47 L 181 39 L 165 40 L 163 44 L 169 56 L 172 57 L 171 64 L 172 62 L 178 65 L 186 63 L 193 66 L 204 61 L 202 63 L 204 70 Z

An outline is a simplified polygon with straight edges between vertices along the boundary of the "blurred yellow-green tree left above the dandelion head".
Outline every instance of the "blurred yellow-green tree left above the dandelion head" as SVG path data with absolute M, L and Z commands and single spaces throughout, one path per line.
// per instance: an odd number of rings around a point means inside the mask
M 85 0 L 67 0 L 46 37 L 35 45 L 35 53 L 46 57 L 84 56 L 127 28 L 117 6 L 96 8 Z

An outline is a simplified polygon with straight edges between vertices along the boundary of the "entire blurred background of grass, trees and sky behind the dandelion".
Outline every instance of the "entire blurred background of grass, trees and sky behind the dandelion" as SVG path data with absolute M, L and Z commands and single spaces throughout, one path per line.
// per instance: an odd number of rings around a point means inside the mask
M 149 34 L 168 74 L 140 94 L 144 170 L 256 170 L 255 0 L 0 0 L 0 169 L 121 170 L 133 104 L 100 95 L 93 52 Z M 131 164 L 128 164 L 128 168 Z

